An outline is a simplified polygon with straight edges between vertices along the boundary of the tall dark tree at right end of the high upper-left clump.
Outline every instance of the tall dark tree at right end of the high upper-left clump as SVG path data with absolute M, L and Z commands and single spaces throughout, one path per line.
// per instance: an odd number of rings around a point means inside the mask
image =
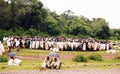
M 24 2 L 26 3 L 24 4 Z M 38 0 L 24 0 L 24 2 L 21 2 L 20 10 L 25 10 L 25 12 L 19 16 L 20 22 L 18 24 L 24 29 L 40 30 L 47 16 L 47 11 L 42 8 L 43 4 Z

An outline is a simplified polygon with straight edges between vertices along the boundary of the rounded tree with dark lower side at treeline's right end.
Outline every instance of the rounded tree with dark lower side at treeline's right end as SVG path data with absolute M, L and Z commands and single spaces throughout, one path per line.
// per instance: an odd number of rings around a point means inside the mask
M 94 18 L 91 24 L 93 29 L 94 37 L 98 37 L 100 39 L 108 39 L 110 36 L 110 29 L 108 26 L 108 22 L 103 18 Z

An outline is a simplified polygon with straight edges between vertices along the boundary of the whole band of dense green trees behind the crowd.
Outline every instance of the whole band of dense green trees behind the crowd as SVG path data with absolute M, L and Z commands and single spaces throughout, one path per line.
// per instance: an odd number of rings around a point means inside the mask
M 61 15 L 43 7 L 39 0 L 0 0 L 0 39 L 3 36 L 55 36 L 120 39 L 119 29 L 110 29 L 103 18 Z

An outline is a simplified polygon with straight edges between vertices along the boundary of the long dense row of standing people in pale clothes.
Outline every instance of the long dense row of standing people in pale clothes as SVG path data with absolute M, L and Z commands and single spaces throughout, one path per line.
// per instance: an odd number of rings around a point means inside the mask
M 4 37 L 8 50 L 13 47 L 52 51 L 101 51 L 112 49 L 112 44 L 106 40 L 78 38 L 41 38 L 41 37 Z

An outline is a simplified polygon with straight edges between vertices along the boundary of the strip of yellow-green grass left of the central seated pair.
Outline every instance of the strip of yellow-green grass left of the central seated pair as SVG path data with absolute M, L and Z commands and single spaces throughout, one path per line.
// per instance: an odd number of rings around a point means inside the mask
M 2 68 L 3 66 L 6 66 L 7 63 L 0 63 L 0 71 L 38 70 L 41 64 L 41 60 L 22 60 L 21 66 L 8 66 L 6 68 Z

